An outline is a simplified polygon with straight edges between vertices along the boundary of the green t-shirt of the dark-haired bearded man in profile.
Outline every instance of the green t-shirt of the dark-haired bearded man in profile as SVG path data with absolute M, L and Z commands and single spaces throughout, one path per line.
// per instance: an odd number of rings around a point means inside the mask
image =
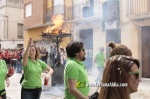
M 77 89 L 85 96 L 88 96 L 90 88 L 86 86 L 89 83 L 87 72 L 83 62 L 75 59 L 68 59 L 64 70 L 65 99 L 76 99 L 68 89 L 68 79 L 77 80 Z

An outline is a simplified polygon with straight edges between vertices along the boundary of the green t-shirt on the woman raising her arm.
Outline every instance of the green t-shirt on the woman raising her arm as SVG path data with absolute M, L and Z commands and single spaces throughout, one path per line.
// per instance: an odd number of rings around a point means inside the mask
M 22 87 L 27 89 L 40 88 L 42 86 L 41 74 L 47 67 L 47 64 L 41 60 L 33 62 L 28 59 L 27 66 L 23 66 L 24 80 L 22 81 Z

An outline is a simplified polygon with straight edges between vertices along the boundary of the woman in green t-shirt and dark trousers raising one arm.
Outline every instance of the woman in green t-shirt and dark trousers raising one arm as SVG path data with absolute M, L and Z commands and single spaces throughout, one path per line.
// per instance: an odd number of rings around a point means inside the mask
M 34 45 L 31 45 L 31 42 L 32 39 L 30 38 L 23 55 L 22 65 L 24 69 L 24 79 L 21 83 L 21 99 L 40 99 L 42 91 L 42 71 L 48 71 L 45 77 L 47 82 L 53 73 L 53 69 L 50 66 L 45 62 L 38 60 L 40 55 L 39 51 Z

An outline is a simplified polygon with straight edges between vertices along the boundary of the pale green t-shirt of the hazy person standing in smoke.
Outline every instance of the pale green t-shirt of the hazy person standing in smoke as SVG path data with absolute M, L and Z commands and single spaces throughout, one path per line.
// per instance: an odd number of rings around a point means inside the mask
M 97 53 L 95 56 L 97 66 L 104 67 L 105 57 L 103 53 Z

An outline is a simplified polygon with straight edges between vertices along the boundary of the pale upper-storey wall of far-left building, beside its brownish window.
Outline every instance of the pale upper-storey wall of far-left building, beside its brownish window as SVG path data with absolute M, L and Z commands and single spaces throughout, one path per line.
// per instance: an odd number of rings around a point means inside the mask
M 4 19 L 5 21 L 0 21 L 0 31 L 3 31 L 2 33 L 0 33 L 0 35 L 4 34 L 5 39 L 7 39 L 7 37 L 8 39 L 12 39 L 12 38 L 17 39 L 18 23 L 23 24 L 23 20 L 24 20 L 23 8 L 4 7 L 0 9 L 0 14 L 8 16 L 8 17 L 5 17 Z M 8 21 L 7 21 L 7 18 L 8 18 Z M 5 24 L 5 26 L 3 26 L 2 24 Z M 4 37 L 3 35 L 0 36 L 0 38 L 3 38 L 3 37 Z

